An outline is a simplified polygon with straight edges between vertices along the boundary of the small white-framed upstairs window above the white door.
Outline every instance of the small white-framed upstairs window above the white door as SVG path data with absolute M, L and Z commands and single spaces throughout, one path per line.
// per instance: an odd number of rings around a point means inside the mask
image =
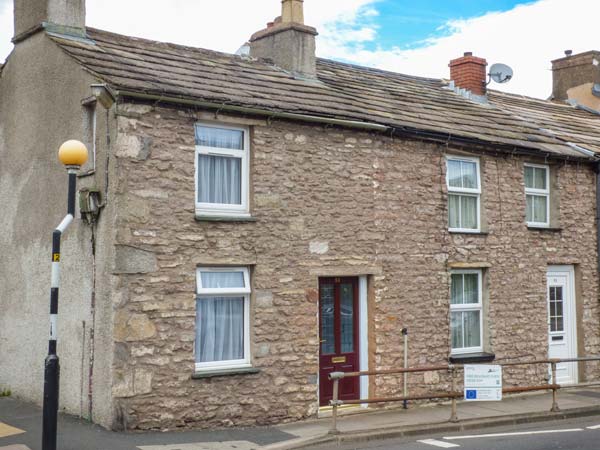
M 550 226 L 550 168 L 525 164 L 525 221 L 537 227 Z

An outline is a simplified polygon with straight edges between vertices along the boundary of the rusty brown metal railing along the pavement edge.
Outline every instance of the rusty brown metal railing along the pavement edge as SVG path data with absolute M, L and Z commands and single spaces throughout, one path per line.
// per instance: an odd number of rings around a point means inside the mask
M 556 365 L 566 362 L 588 362 L 588 361 L 600 361 L 600 356 L 582 356 L 579 358 L 550 358 L 533 361 L 514 361 L 514 362 L 500 362 L 499 366 L 520 366 L 520 365 L 533 365 L 533 364 L 549 364 L 552 373 L 552 384 L 542 384 L 535 386 L 511 386 L 502 389 L 503 393 L 517 393 L 517 392 L 532 392 L 532 391 L 546 391 L 552 390 L 552 407 L 551 412 L 558 412 L 560 408 L 557 402 L 557 391 L 561 388 L 556 380 Z M 330 400 L 329 404 L 332 406 L 332 424 L 329 433 L 339 433 L 337 429 L 337 415 L 338 407 L 342 405 L 360 405 L 369 403 L 388 403 L 388 402 L 399 402 L 406 400 L 433 400 L 433 399 L 451 399 L 452 410 L 450 415 L 450 422 L 458 422 L 457 415 L 457 399 L 463 396 L 462 392 L 456 391 L 457 386 L 457 371 L 463 370 L 464 364 L 440 364 L 436 366 L 424 366 L 424 367 L 409 367 L 400 369 L 386 369 L 386 370 L 365 370 L 360 372 L 331 372 L 328 376 L 333 381 L 333 399 Z M 371 398 L 371 399 L 356 399 L 356 400 L 340 400 L 339 399 L 339 382 L 344 378 L 352 377 L 363 377 L 363 376 L 378 376 L 378 375 L 395 375 L 395 374 L 406 374 L 416 372 L 434 372 L 434 371 L 448 371 L 452 376 L 452 386 L 450 392 L 435 392 L 427 395 L 411 395 L 402 397 L 384 397 L 384 398 Z

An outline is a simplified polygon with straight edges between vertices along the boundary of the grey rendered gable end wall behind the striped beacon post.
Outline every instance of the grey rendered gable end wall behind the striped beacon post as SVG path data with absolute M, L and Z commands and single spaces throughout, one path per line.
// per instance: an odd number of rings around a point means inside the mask
M 90 117 L 81 104 L 92 82 L 43 32 L 15 46 L 0 78 L 0 386 L 36 403 L 42 400 L 48 345 L 51 233 L 66 214 L 67 177 L 57 150 L 67 139 L 92 147 Z M 105 120 L 101 114 L 99 129 L 106 128 Z M 80 187 L 102 186 L 102 142 L 100 170 L 82 178 Z M 110 239 L 109 230 L 102 221 L 95 230 L 100 287 L 92 392 L 94 419 L 105 425 L 112 418 L 111 308 L 102 288 L 108 285 L 102 243 Z M 63 237 L 61 266 L 60 406 L 87 417 L 94 258 L 92 229 L 79 214 Z

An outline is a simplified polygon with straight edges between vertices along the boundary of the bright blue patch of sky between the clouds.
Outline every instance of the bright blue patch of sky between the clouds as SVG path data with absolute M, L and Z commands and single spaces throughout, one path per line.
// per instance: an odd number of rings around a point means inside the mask
M 366 47 L 374 49 L 414 48 L 432 36 L 448 33 L 445 25 L 452 20 L 483 16 L 492 11 L 508 11 L 519 4 L 516 0 L 382 0 L 374 4 L 377 17 L 377 42 Z

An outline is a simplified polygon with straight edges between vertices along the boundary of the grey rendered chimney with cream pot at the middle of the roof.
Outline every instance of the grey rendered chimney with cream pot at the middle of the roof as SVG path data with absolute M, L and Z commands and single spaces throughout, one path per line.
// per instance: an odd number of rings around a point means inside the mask
M 250 38 L 250 56 L 269 59 L 296 77 L 314 79 L 317 34 L 304 24 L 304 0 L 282 0 L 281 17 Z

